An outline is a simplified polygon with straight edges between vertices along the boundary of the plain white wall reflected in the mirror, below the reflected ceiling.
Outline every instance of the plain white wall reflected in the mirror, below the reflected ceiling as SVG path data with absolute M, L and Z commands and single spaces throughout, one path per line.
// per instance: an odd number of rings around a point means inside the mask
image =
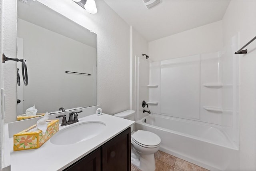
M 23 86 L 23 112 L 18 114 L 24 114 L 33 105 L 38 113 L 96 105 L 92 100 L 96 48 L 21 19 L 17 36 L 23 39 L 29 76 L 29 84 Z M 18 46 L 18 53 L 19 49 Z M 23 84 L 21 68 L 20 77 Z

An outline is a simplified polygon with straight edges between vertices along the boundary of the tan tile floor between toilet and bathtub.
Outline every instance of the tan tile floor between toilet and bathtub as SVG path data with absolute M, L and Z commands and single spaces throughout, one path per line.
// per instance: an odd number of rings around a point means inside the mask
M 198 165 L 158 151 L 155 153 L 156 171 L 208 171 Z M 140 171 L 132 165 L 131 171 Z

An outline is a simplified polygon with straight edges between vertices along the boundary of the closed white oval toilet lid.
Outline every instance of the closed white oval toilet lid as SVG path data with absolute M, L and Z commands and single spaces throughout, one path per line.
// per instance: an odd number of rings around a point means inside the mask
M 142 145 L 156 146 L 161 143 L 160 137 L 149 131 L 138 130 L 132 134 L 132 139 Z

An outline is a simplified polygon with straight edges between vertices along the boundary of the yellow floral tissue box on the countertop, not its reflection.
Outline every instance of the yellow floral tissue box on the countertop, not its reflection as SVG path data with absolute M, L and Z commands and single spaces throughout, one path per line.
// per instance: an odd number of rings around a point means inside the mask
M 36 124 L 13 135 L 13 151 L 39 148 L 59 131 L 58 119 L 46 122 L 48 122 L 48 127 L 44 135 L 41 130 L 36 129 Z

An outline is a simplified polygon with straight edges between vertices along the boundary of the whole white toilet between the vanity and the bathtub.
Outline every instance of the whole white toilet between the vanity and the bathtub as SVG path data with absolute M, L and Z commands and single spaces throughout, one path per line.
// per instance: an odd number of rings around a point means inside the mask
M 116 117 L 122 117 L 135 121 L 135 111 L 126 110 L 114 114 Z M 156 169 L 154 153 L 160 147 L 161 139 L 155 133 L 150 131 L 134 131 L 134 125 L 131 126 L 131 162 L 142 171 L 154 171 Z

